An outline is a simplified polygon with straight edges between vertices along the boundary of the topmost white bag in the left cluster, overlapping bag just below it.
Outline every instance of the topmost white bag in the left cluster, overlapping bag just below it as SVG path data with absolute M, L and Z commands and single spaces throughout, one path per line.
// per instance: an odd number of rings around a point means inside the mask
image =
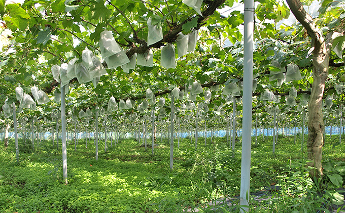
M 115 55 L 121 52 L 120 46 L 115 41 L 112 32 L 105 30 L 100 33 L 99 36 L 99 49 L 102 58 L 105 59 L 109 56 Z

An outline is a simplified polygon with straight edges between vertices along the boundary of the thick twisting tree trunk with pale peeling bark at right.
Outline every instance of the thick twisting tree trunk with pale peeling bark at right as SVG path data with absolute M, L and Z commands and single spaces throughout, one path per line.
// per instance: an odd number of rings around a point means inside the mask
M 313 77 L 312 92 L 309 98 L 309 122 L 308 122 L 308 141 L 307 151 L 308 159 L 312 162 L 308 166 L 314 167 L 309 175 L 312 179 L 323 176 L 322 169 L 322 147 L 324 145 L 323 132 L 325 129 L 322 117 L 322 97 L 325 89 L 325 81 L 328 76 L 330 42 L 327 44 L 320 29 L 309 14 L 305 12 L 299 0 L 287 1 L 291 12 L 296 19 L 306 29 L 308 35 L 314 41 L 313 51 Z

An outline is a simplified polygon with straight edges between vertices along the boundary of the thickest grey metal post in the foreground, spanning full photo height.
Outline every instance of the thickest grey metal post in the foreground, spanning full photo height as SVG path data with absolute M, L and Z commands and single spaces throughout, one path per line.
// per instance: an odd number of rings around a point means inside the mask
M 253 42 L 254 42 L 254 1 L 245 2 L 244 17 L 244 76 L 243 76 L 243 134 L 241 157 L 241 184 L 239 204 L 248 211 L 250 195 L 250 164 L 252 145 L 252 94 L 253 94 Z

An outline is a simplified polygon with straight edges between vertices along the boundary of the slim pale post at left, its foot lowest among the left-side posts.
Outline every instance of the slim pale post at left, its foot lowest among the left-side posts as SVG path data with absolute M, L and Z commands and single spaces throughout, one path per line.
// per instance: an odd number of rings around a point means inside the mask
M 67 86 L 68 87 L 68 86 Z M 66 148 L 66 104 L 65 104 L 65 86 L 60 86 L 61 91 L 61 139 L 62 139 L 62 168 L 63 178 L 67 184 L 67 148 Z

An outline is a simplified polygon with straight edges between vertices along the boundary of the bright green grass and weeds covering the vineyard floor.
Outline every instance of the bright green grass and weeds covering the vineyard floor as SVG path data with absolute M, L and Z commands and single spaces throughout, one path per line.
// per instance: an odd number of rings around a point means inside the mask
M 251 212 L 323 212 L 332 201 L 336 203 L 334 189 L 345 178 L 341 170 L 345 168 L 344 148 L 333 148 L 326 140 L 326 175 L 318 185 L 308 177 L 308 168 L 303 166 L 306 154 L 301 153 L 299 136 L 297 139 L 294 145 L 293 137 L 280 137 L 274 154 L 272 137 L 258 137 L 258 145 L 252 145 L 251 193 L 271 185 L 281 190 L 272 191 L 265 200 L 252 197 Z M 206 146 L 203 138 L 199 142 L 197 150 L 194 140 L 182 140 L 180 149 L 175 142 L 172 171 L 167 140 L 154 147 L 154 155 L 150 143 L 145 151 L 132 139 L 113 147 L 108 141 L 107 152 L 100 143 L 97 161 L 93 141 L 87 148 L 79 141 L 77 151 L 70 142 L 68 185 L 64 185 L 62 153 L 56 150 L 56 144 L 42 141 L 32 152 L 29 142 L 25 146 L 20 140 L 20 163 L 16 163 L 14 141 L 10 141 L 6 150 L 0 148 L 0 211 L 184 212 L 201 206 L 200 211 L 214 212 L 215 206 L 208 206 L 210 201 L 239 195 L 241 144 L 236 142 L 233 153 L 225 138 L 216 138 L 212 144 L 208 139 Z M 217 209 L 237 212 L 237 199 L 232 207 L 219 204 Z

